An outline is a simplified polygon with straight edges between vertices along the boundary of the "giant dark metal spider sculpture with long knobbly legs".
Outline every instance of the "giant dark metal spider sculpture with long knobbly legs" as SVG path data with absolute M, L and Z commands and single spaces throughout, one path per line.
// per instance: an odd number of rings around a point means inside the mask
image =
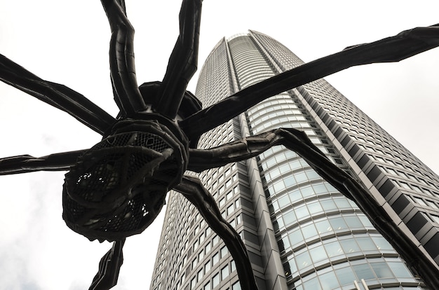
M 296 151 L 323 178 L 357 204 L 407 263 L 439 289 L 437 267 L 393 223 L 377 201 L 313 146 L 304 132 L 271 130 L 216 148 L 196 149 L 203 132 L 238 116 L 263 99 L 342 69 L 372 62 L 397 62 L 439 46 L 439 27 L 416 28 L 374 43 L 346 48 L 252 85 L 206 109 L 187 84 L 196 71 L 202 0 L 183 0 L 180 36 L 162 82 L 137 85 L 134 29 L 123 0 L 102 0 L 112 30 L 109 60 L 114 118 L 74 90 L 44 81 L 1 55 L 1 81 L 66 111 L 102 141 L 90 149 L 0 159 L 0 174 L 68 170 L 62 190 L 62 217 L 89 240 L 114 242 L 102 257 L 90 289 L 110 289 L 117 282 L 126 237 L 142 233 L 154 221 L 171 189 L 184 195 L 229 248 L 242 289 L 257 289 L 247 251 L 238 233 L 222 219 L 212 195 L 187 171 L 201 172 L 257 156 L 271 146 Z

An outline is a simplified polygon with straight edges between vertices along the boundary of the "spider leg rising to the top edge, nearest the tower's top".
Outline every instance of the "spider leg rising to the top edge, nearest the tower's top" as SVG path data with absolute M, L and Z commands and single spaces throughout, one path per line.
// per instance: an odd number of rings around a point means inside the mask
M 154 109 L 175 118 L 187 84 L 194 76 L 198 62 L 202 0 L 184 0 L 180 10 L 180 35 L 171 53 L 161 84 L 161 94 Z

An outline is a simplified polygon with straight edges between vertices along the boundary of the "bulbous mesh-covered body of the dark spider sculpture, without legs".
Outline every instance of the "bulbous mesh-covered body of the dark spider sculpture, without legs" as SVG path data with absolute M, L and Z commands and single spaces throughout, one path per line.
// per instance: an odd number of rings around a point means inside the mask
M 186 170 L 187 145 L 151 120 L 123 120 L 65 176 L 63 218 L 90 240 L 142 233 Z

